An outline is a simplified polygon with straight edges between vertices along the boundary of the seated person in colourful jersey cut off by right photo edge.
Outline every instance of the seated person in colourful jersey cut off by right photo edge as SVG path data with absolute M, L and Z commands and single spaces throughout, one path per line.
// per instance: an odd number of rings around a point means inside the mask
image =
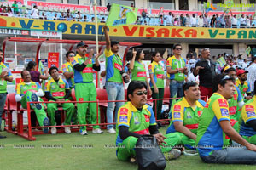
M 255 81 L 256 82 L 256 81 Z M 241 126 L 239 134 L 251 144 L 256 144 L 256 83 L 254 82 L 253 99 L 241 108 Z

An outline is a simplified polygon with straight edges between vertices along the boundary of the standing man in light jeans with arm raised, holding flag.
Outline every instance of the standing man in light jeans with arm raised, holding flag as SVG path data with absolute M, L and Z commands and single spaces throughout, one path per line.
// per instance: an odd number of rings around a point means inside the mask
M 123 71 L 122 58 L 119 56 L 119 42 L 112 41 L 108 36 L 108 26 L 103 27 L 106 37 L 106 49 L 104 55 L 106 57 L 106 90 L 108 100 L 125 100 L 125 88 L 123 85 L 123 77 L 120 71 Z M 126 78 L 129 79 L 127 76 Z M 117 113 L 124 102 L 117 102 L 115 108 L 115 121 L 117 120 Z M 108 123 L 113 123 L 114 103 L 108 102 L 107 117 Z M 113 125 L 108 125 L 108 133 L 115 133 Z

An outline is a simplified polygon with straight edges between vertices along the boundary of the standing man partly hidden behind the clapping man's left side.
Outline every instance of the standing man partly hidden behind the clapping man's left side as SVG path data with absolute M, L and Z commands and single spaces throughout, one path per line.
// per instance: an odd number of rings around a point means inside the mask
M 68 85 L 70 89 L 74 88 L 74 80 L 73 80 L 73 66 L 70 63 L 70 60 L 75 56 L 73 51 L 68 51 L 66 54 L 67 63 L 64 63 L 61 66 L 61 70 L 63 72 L 64 77 L 67 79 Z

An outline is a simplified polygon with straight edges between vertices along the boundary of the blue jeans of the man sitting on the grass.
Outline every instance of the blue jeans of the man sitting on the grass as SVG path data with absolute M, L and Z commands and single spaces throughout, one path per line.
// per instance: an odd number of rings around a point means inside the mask
M 256 152 L 233 141 L 231 147 L 213 150 L 211 156 L 202 156 L 201 160 L 206 163 L 256 164 Z

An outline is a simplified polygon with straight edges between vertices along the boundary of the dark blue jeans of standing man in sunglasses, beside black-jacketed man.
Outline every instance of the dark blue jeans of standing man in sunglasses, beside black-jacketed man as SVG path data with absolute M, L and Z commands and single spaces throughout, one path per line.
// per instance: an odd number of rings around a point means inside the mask
M 177 98 L 183 97 L 183 84 L 184 82 L 177 82 L 175 80 L 170 80 L 170 98 L 177 95 Z M 170 108 L 172 106 L 172 99 L 170 99 Z

